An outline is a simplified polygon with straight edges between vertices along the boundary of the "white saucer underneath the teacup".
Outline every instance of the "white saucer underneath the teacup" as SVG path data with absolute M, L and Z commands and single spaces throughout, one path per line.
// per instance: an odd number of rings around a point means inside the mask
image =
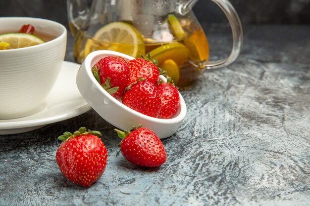
M 42 110 L 23 118 L 0 120 L 0 135 L 32 131 L 89 111 L 91 107 L 84 100 L 75 81 L 79 68 L 79 64 L 64 61 Z

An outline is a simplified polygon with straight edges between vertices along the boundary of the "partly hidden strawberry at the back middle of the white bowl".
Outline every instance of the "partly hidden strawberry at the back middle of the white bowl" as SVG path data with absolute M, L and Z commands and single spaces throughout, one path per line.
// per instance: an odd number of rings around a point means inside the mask
M 136 82 L 139 77 L 154 84 L 159 80 L 159 71 L 155 64 L 145 59 L 133 59 L 128 61 L 130 70 L 130 83 Z

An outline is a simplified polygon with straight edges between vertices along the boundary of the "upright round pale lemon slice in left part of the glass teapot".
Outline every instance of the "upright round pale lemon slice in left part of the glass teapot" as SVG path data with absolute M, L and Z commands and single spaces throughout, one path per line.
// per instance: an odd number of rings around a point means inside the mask
M 112 50 L 140 57 L 145 54 L 143 37 L 131 24 L 112 22 L 99 29 L 92 39 L 87 40 L 84 55 L 95 50 Z

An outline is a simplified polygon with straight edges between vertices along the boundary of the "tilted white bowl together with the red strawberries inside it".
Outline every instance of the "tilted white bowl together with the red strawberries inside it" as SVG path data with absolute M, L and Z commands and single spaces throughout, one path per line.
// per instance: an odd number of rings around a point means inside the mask
M 150 57 L 98 50 L 82 63 L 76 82 L 88 104 L 122 130 L 143 125 L 159 138 L 174 134 L 186 115 L 185 101 Z

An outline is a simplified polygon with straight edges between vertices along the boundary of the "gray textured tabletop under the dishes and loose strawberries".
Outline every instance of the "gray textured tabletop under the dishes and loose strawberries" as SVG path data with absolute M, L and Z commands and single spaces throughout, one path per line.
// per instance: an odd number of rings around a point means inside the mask
M 228 51 L 225 35 L 211 37 L 211 49 Z M 182 95 L 187 117 L 163 140 L 167 162 L 155 169 L 125 161 L 113 127 L 94 111 L 0 136 L 0 205 L 309 205 L 310 26 L 246 27 L 237 61 L 206 71 Z M 108 150 L 89 189 L 54 161 L 56 137 L 80 125 L 101 130 Z

